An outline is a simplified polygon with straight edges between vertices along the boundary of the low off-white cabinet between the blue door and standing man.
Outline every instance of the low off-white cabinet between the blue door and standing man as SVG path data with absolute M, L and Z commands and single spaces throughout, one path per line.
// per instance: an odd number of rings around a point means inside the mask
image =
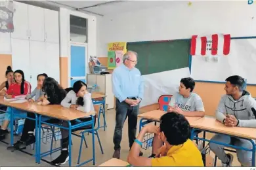
M 87 75 L 87 85 L 94 86 L 97 84 L 99 87 L 99 92 L 103 92 L 106 94 L 106 104 L 108 104 L 108 109 L 114 108 L 114 94 L 112 92 L 112 81 L 110 74 L 108 75 L 95 75 L 88 74 Z

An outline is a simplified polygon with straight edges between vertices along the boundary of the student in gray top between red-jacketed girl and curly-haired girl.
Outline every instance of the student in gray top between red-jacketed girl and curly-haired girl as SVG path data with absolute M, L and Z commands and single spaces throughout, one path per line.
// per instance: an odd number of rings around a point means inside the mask
M 47 77 L 48 77 L 48 75 L 45 73 L 37 75 L 37 87 L 33 90 L 33 92 L 31 94 L 26 96 L 26 99 L 30 103 L 33 103 L 35 101 L 40 101 L 41 100 L 40 97 L 42 97 L 45 94 L 45 92 L 43 92 L 43 90 L 42 90 L 42 86 L 43 86 L 43 81 Z M 33 97 L 35 97 L 35 101 L 33 100 Z

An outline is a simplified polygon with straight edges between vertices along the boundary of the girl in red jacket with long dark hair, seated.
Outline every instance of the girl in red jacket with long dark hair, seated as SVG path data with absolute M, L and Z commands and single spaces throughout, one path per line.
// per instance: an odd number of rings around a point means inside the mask
M 14 80 L 15 82 L 11 84 L 11 86 L 7 90 L 7 94 L 5 95 L 7 99 L 26 97 L 26 95 L 30 94 L 31 85 L 30 85 L 30 82 L 27 82 L 25 80 L 23 71 L 16 70 L 14 72 Z M 8 133 L 7 127 L 9 126 L 9 122 L 11 120 L 11 112 L 24 114 L 24 116 L 26 116 L 26 112 L 8 107 L 5 113 L 5 120 L 0 129 L 0 140 L 5 139 L 5 134 Z

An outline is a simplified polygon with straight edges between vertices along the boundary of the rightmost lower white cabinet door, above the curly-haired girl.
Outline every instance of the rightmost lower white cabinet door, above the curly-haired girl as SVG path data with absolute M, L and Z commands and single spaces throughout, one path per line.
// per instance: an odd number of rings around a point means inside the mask
M 59 44 L 52 42 L 45 42 L 45 69 L 44 73 L 53 77 L 60 83 L 60 54 Z

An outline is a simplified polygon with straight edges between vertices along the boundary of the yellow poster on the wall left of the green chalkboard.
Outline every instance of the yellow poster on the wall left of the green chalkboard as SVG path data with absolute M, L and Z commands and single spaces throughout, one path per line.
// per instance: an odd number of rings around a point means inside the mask
M 121 65 L 125 52 L 127 52 L 126 42 L 108 43 L 108 69 L 115 69 Z

